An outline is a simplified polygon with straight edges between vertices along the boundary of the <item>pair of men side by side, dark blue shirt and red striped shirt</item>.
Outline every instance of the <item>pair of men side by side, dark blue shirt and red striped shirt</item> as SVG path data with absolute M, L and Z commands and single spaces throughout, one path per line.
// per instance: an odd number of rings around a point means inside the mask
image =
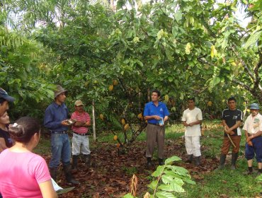
M 57 179 L 57 170 L 60 161 L 62 161 L 64 175 L 67 182 L 78 185 L 79 182 L 72 177 L 72 167 L 70 164 L 71 152 L 73 155 L 73 169 L 77 169 L 78 157 L 81 153 L 84 155 L 85 163 L 88 166 L 91 161 L 91 151 L 89 148 L 88 127 L 91 126 L 91 119 L 87 112 L 84 111 L 84 103 L 76 100 L 74 103 L 75 112 L 71 115 L 69 122 L 69 110 L 64 101 L 67 96 L 66 90 L 62 86 L 57 86 L 54 95 L 54 102 L 45 110 L 44 126 L 50 130 L 51 134 L 51 152 L 52 157 L 49 163 L 50 174 L 54 180 Z M 68 136 L 68 129 L 72 125 L 72 151 Z M 82 147 L 82 149 L 81 149 Z M 81 150 L 80 150 L 81 149 Z

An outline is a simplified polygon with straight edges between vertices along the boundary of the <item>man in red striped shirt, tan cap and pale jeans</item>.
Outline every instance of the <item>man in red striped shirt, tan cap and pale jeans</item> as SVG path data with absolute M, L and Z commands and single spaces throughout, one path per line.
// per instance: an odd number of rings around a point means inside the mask
M 84 111 L 84 104 L 81 100 L 76 100 L 74 103 L 75 112 L 72 113 L 71 119 L 76 121 L 72 125 L 72 156 L 73 169 L 77 170 L 78 156 L 81 153 L 84 155 L 86 167 L 90 165 L 90 148 L 89 148 L 89 126 L 91 126 L 91 119 L 87 112 Z M 81 148 L 82 146 L 82 148 Z

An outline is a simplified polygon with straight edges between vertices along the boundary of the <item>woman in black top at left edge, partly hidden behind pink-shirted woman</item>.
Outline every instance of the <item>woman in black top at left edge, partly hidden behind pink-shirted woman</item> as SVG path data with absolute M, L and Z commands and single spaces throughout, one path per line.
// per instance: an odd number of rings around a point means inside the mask
M 13 141 L 8 133 L 8 124 L 10 123 L 7 112 L 0 117 L 0 153 L 6 148 L 13 146 Z

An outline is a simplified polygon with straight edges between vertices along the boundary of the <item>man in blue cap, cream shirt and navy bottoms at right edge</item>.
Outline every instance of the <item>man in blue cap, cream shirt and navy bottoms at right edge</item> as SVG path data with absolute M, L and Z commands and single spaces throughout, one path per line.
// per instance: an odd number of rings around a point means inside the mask
M 256 154 L 258 162 L 258 175 L 262 173 L 262 115 L 258 112 L 257 103 L 250 105 L 251 115 L 246 118 L 243 129 L 246 134 L 245 156 L 248 164 L 248 175 L 253 173 L 253 158 Z

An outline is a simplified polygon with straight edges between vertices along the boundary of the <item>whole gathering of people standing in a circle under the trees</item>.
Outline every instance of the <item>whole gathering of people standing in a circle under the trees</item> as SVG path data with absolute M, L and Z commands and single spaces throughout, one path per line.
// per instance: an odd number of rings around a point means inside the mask
M 57 171 L 62 161 L 67 182 L 78 185 L 72 177 L 70 163 L 72 153 L 73 169 L 78 168 L 80 153 L 84 155 L 86 166 L 91 161 L 89 148 L 89 128 L 91 119 L 84 111 L 84 103 L 76 100 L 75 111 L 71 117 L 64 104 L 67 91 L 57 86 L 54 101 L 45 110 L 44 126 L 50 130 L 52 157 L 49 168 L 45 159 L 33 153 L 33 148 L 40 140 L 40 124 L 32 117 L 21 117 L 10 124 L 8 117 L 8 102 L 15 99 L 0 88 L 0 193 L 4 197 L 57 197 L 52 180 L 57 179 Z M 159 91 L 152 91 L 152 101 L 144 107 L 144 120 L 147 120 L 147 168 L 152 168 L 152 156 L 155 144 L 158 148 L 159 165 L 164 165 L 164 136 L 165 123 L 169 120 L 169 110 L 159 101 Z M 218 169 L 224 168 L 224 163 L 232 149 L 232 169 L 236 169 L 236 161 L 241 140 L 240 125 L 243 113 L 237 109 L 237 100 L 229 98 L 228 108 L 222 112 L 224 126 L 224 140 Z M 262 115 L 256 103 L 250 105 L 251 115 L 244 123 L 246 136 L 245 156 L 248 162 L 248 174 L 253 173 L 252 163 L 256 156 L 258 173 L 262 173 Z M 202 112 L 195 107 L 195 99 L 188 99 L 188 109 L 183 112 L 182 123 L 185 126 L 185 143 L 188 158 L 186 162 L 200 165 L 200 124 L 203 120 Z M 73 131 L 72 150 L 68 130 Z M 0 197 L 1 197 L 0 194 Z

